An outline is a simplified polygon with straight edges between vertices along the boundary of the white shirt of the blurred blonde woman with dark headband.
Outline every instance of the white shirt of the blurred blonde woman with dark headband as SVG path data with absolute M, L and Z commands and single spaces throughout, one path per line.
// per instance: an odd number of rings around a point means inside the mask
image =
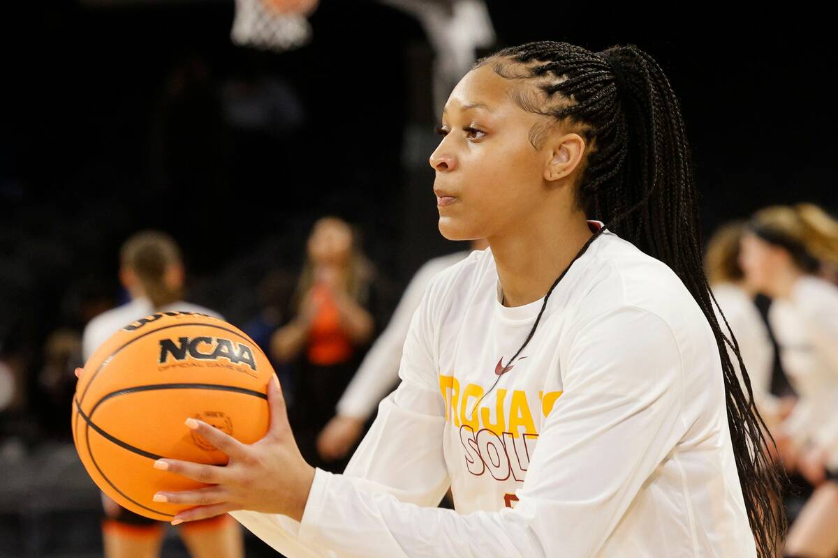
M 789 299 L 773 301 L 768 320 L 799 396 L 784 428 L 799 447 L 829 449 L 829 467 L 838 469 L 838 287 L 804 275 Z

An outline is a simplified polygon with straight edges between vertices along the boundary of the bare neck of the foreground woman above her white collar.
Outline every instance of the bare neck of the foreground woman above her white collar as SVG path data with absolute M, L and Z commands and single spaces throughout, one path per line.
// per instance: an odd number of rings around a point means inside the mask
M 566 219 L 522 223 L 513 233 L 489 238 L 505 306 L 541 299 L 592 237 L 581 212 Z

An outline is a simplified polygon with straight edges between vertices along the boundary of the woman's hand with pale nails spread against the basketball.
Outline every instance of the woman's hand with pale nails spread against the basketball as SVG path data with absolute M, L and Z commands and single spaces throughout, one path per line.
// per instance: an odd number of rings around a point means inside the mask
M 154 501 L 194 505 L 174 516 L 173 525 L 203 520 L 235 509 L 284 514 L 302 520 L 314 468 L 306 463 L 288 425 L 285 399 L 276 378 L 269 382 L 271 427 L 256 443 L 244 444 L 206 422 L 188 418 L 186 425 L 207 442 L 226 453 L 223 466 L 158 459 L 155 468 L 180 474 L 210 486 L 203 489 L 158 492 Z

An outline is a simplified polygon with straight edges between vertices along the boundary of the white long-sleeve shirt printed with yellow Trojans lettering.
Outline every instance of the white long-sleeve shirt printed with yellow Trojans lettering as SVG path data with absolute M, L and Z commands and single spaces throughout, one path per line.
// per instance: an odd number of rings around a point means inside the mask
M 756 556 L 716 340 L 675 273 L 604 233 L 511 365 L 543 299 L 499 293 L 490 248 L 438 274 L 345 474 L 316 469 L 299 523 L 235 519 L 290 558 Z M 456 510 L 431 507 L 449 485 Z

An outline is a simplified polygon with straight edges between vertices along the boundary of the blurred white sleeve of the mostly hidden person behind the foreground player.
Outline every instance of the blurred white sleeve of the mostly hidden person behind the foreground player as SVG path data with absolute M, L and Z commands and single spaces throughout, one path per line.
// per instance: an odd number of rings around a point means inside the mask
M 387 393 L 396 386 L 399 381 L 401 347 L 405 345 L 411 318 L 422 302 L 422 294 L 425 294 L 427 284 L 442 269 L 456 264 L 466 256 L 468 250 L 449 253 L 429 259 L 416 271 L 401 295 L 387 327 L 370 347 L 370 351 L 346 387 L 344 395 L 340 397 L 337 406 L 339 415 L 366 420 Z

